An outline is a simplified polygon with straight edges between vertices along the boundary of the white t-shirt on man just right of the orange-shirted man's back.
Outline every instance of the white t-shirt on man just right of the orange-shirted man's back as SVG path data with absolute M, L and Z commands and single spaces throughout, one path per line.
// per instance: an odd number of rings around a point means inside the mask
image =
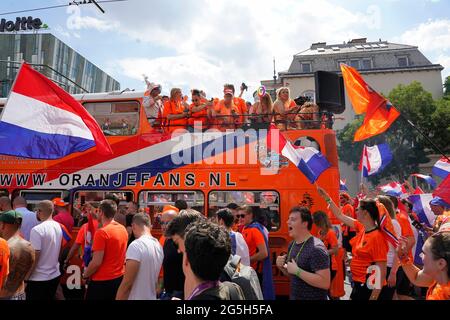
M 163 249 L 152 236 L 144 235 L 130 244 L 126 260 L 139 261 L 140 265 L 128 300 L 156 300 L 156 285 L 163 258 Z

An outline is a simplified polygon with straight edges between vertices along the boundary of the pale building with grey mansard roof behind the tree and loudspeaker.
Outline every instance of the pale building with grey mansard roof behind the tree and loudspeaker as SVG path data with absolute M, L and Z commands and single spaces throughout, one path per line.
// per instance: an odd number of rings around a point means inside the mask
M 430 62 L 418 47 L 381 40 L 367 42 L 365 38 L 336 45 L 325 42 L 312 44 L 309 49 L 294 55 L 289 69 L 278 74 L 278 82 L 280 86 L 290 88 L 292 97 L 305 95 L 314 99 L 314 72 L 322 70 L 340 74 L 341 63 L 358 69 L 372 88 L 385 95 L 399 84 L 418 81 L 434 99 L 443 96 L 441 71 L 444 68 Z M 343 129 L 355 118 L 347 95 L 345 101 L 346 109 L 337 115 L 338 120 L 334 124 L 336 130 Z M 342 178 L 347 179 L 347 186 L 355 193 L 360 174 L 343 162 L 339 166 Z

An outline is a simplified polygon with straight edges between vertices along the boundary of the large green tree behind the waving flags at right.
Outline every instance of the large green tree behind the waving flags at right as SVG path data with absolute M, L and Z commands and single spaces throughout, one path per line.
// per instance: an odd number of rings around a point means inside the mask
M 448 129 L 449 124 L 450 115 L 445 114 L 449 111 L 447 103 L 433 101 L 431 94 L 416 81 L 407 86 L 397 86 L 389 93 L 388 99 L 403 116 L 428 134 L 442 149 L 448 148 L 449 131 L 445 131 L 447 136 L 442 134 L 442 127 Z M 439 118 L 438 121 L 436 121 L 437 118 Z M 427 154 L 435 153 L 426 139 L 402 117 L 398 118 L 385 133 L 365 141 L 353 142 L 355 131 L 362 121 L 363 117 L 355 119 L 338 132 L 339 157 L 347 164 L 353 164 L 353 167 L 357 169 L 364 144 L 368 146 L 383 142 L 389 144 L 393 160 L 381 173 L 369 178 L 374 184 L 378 184 L 382 178 L 403 181 L 411 173 L 419 172 L 419 164 L 429 161 Z M 440 130 L 438 130 L 439 128 Z M 447 140 L 445 140 L 446 137 Z

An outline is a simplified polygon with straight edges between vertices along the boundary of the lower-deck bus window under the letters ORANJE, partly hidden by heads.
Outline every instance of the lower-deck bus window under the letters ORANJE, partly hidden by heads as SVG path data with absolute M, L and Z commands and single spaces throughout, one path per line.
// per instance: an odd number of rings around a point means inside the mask
M 132 191 L 77 191 L 75 192 L 73 198 L 72 209 L 72 215 L 77 222 L 76 225 L 81 226 L 83 223 L 87 222 L 87 209 L 85 204 L 90 203 L 95 207 L 98 207 L 100 202 L 105 199 L 107 193 L 113 193 L 119 198 L 120 202 L 117 211 L 119 214 L 125 216 L 127 203 L 133 201 L 134 199 L 134 194 Z

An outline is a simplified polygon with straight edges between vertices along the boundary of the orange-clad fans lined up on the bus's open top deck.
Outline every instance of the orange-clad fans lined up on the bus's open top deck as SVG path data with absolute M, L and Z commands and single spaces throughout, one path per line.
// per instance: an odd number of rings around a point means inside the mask
M 312 102 L 297 105 L 287 87 L 277 90 L 275 101 L 269 93 L 255 91 L 254 103 L 242 98 L 245 86 L 241 86 L 239 96 L 235 96 L 233 84 L 224 85 L 223 99 L 207 99 L 203 90 L 193 89 L 191 103 L 180 88 L 172 88 L 170 96 L 161 96 L 161 85 L 147 81 L 147 87 L 143 100 L 146 116 L 153 128 L 170 133 L 177 129 L 258 128 L 270 123 L 280 130 L 321 127 L 319 107 Z

